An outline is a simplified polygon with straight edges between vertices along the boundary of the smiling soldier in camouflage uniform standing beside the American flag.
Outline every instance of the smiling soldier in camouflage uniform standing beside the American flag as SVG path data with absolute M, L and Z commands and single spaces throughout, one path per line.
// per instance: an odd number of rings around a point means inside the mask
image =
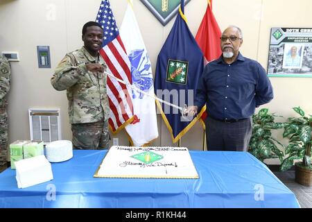
M 73 133 L 73 148 L 108 148 L 109 104 L 106 93 L 107 66 L 98 51 L 103 42 L 103 29 L 96 22 L 83 26 L 81 49 L 67 53 L 51 84 L 56 90 L 67 89 L 69 121 Z

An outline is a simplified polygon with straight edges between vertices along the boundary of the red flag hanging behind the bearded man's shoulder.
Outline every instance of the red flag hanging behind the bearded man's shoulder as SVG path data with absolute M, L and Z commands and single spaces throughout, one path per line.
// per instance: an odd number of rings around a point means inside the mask
M 200 23 L 200 27 L 198 28 L 195 37 L 198 46 L 200 46 L 200 49 L 206 58 L 205 65 L 207 62 L 220 57 L 222 53 L 220 49 L 220 37 L 221 31 L 218 23 L 216 22 L 216 18 L 212 13 L 212 0 L 208 0 L 206 13 L 202 18 L 202 22 Z M 206 117 L 207 113 L 204 112 L 202 114 L 201 120 L 205 121 Z M 205 128 L 204 123 L 202 126 Z

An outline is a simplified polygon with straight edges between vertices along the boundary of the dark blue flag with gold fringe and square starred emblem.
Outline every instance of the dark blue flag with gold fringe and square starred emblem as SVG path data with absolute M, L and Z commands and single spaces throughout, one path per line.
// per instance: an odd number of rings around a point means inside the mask
M 204 57 L 194 39 L 184 16 L 184 1 L 179 14 L 157 58 L 155 73 L 155 94 L 164 101 L 184 108 L 193 105 L 195 89 L 204 67 Z M 177 142 L 200 118 L 193 120 L 182 117 L 181 111 L 157 101 L 162 118 L 171 133 L 173 143 Z

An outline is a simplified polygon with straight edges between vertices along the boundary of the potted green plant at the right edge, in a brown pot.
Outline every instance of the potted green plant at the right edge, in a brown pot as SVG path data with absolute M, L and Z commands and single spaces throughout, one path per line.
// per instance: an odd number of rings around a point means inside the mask
M 300 117 L 288 118 L 288 123 L 285 124 L 283 137 L 289 137 L 289 145 L 285 150 L 288 157 L 281 163 L 281 171 L 290 169 L 294 160 L 302 159 L 302 162 L 295 164 L 295 180 L 302 185 L 311 186 L 312 116 L 306 117 L 300 107 L 293 108 L 293 110 L 300 114 Z

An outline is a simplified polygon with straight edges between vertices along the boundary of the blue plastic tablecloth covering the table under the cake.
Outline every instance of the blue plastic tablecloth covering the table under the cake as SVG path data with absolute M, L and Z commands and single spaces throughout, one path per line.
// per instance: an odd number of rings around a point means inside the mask
M 300 207 L 250 153 L 190 151 L 199 179 L 94 178 L 106 152 L 73 151 L 71 160 L 52 164 L 53 180 L 25 189 L 7 169 L 0 173 L 0 208 Z

